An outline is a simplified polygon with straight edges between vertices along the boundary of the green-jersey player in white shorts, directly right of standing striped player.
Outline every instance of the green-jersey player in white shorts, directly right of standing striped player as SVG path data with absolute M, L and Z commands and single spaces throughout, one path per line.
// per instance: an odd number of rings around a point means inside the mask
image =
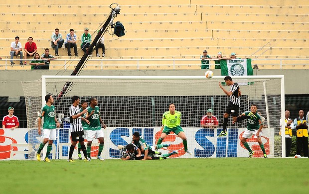
M 101 113 L 99 110 L 98 105 L 98 100 L 95 97 L 91 97 L 89 99 L 90 106 L 87 107 L 87 115 L 86 119 L 89 120 L 90 124 L 88 126 L 88 132 L 87 132 L 87 156 L 88 158 L 90 157 L 90 152 L 91 152 L 91 144 L 94 138 L 97 138 L 100 141 L 99 145 L 99 152 L 97 159 L 104 161 L 104 159 L 101 156 L 102 150 L 104 148 L 104 133 L 101 129 L 101 124 L 103 128 L 106 128 L 106 125 L 104 124 L 102 118 L 101 118 Z

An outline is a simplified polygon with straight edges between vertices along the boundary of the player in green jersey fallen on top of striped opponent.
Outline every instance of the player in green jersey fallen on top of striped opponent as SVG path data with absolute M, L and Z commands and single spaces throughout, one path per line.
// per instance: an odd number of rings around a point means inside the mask
M 132 143 L 134 143 L 141 150 L 141 153 L 144 154 L 144 159 L 142 160 L 150 160 L 148 156 L 152 157 L 154 155 L 161 155 L 161 152 L 154 151 L 153 149 L 170 146 L 169 144 L 162 144 L 161 145 L 162 147 L 158 145 L 156 145 L 155 147 L 150 146 L 145 142 L 143 138 L 140 137 L 140 133 L 137 131 L 133 133 Z M 172 153 L 177 154 L 176 151 L 173 151 Z M 140 156 L 141 156 L 140 154 L 137 155 L 137 157 L 140 157 Z M 163 156 L 163 157 L 166 157 L 166 156 Z

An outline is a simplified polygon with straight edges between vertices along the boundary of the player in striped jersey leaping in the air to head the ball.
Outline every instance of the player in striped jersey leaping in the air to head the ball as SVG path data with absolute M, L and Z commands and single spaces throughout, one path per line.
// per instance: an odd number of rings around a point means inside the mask
M 239 112 L 239 106 L 240 106 L 240 99 L 241 96 L 239 85 L 232 80 L 230 76 L 226 76 L 224 78 L 225 84 L 227 86 L 231 86 L 230 91 L 227 91 L 223 88 L 221 85 L 221 82 L 219 82 L 219 87 L 223 90 L 223 92 L 230 97 L 229 104 L 227 105 L 225 112 L 223 114 L 223 129 L 219 135 L 219 137 L 226 136 L 226 127 L 227 127 L 227 121 L 228 117 L 231 114 L 233 118 L 233 122 L 236 122 L 236 118 L 238 116 Z

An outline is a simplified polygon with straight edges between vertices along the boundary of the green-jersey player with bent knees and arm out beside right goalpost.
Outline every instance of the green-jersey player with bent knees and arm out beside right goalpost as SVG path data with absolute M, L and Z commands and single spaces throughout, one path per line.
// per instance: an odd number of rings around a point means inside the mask
M 241 137 L 240 141 L 241 143 L 244 144 L 245 148 L 249 151 L 250 153 L 249 158 L 252 157 L 252 155 L 254 154 L 254 151 L 251 150 L 246 140 L 248 138 L 251 138 L 252 135 L 254 135 L 254 138 L 257 138 L 258 143 L 263 151 L 264 158 L 267 158 L 264 144 L 262 143 L 262 140 L 260 137 L 260 133 L 262 133 L 262 128 L 263 128 L 262 116 L 257 112 L 257 109 L 258 109 L 257 105 L 252 104 L 251 111 L 246 111 L 242 113 L 241 115 L 239 115 L 236 119 L 236 122 L 247 119 L 248 126 L 245 132 L 243 133 L 243 136 Z M 233 123 L 236 123 L 236 122 L 233 121 Z

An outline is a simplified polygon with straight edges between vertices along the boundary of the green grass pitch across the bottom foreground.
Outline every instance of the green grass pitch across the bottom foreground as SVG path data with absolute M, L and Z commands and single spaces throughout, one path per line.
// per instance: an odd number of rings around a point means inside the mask
M 1 161 L 2 194 L 305 194 L 309 159 Z

